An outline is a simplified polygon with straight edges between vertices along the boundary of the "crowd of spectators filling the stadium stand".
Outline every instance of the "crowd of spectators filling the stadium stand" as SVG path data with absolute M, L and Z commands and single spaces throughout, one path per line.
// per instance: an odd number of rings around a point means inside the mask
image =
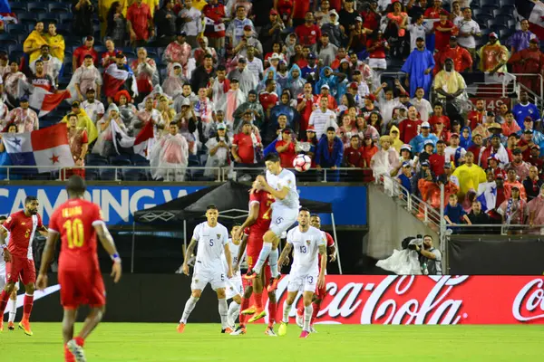
M 470 74 L 543 74 L 539 39 L 515 20 L 513 1 L 225 3 L 10 2 L 3 132 L 64 122 L 77 166 L 160 166 L 153 178 L 177 181 L 186 167 L 214 177 L 212 167 L 255 167 L 268 152 L 292 167 L 304 153 L 329 181 L 340 167 L 372 168 L 434 206 L 443 184 L 461 202 L 447 208 L 452 224 L 478 207 L 544 224 L 539 108 L 525 90 L 511 109 L 467 107 Z M 399 76 L 382 82 L 385 72 Z M 537 80 L 519 77 L 539 93 Z M 69 96 L 38 117 L 24 84 Z M 141 155 L 123 155 L 115 135 L 144 129 Z M 0 164 L 12 164 L 1 143 Z

